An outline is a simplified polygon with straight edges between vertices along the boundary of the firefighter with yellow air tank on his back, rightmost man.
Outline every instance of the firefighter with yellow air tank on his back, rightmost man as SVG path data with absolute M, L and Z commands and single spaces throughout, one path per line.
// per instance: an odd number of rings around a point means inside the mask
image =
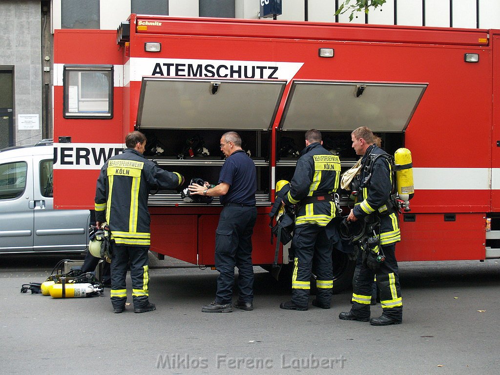
M 356 154 L 362 155 L 361 186 L 347 221 L 365 220 L 368 229 L 358 252 L 362 262 L 352 293 L 352 307 L 348 312 L 340 312 L 338 317 L 343 320 L 369 320 L 372 325 L 399 324 L 402 321 L 402 300 L 394 250 L 395 242 L 400 240 L 400 233 L 397 206 L 391 199 L 391 165 L 387 157 L 377 157 L 387 154 L 376 146 L 375 136 L 370 129 L 358 127 L 351 137 L 352 148 Z M 370 319 L 374 276 L 380 291 L 382 314 Z

